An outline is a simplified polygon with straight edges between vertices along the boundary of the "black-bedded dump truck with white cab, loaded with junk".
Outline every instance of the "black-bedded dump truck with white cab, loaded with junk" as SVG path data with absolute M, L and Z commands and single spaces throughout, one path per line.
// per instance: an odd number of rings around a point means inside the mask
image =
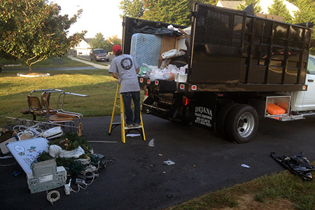
M 192 123 L 237 143 L 255 137 L 259 117 L 284 122 L 314 115 L 315 59 L 309 55 L 312 23 L 292 25 L 203 3 L 195 3 L 190 15 L 190 34 L 179 36 L 159 33 L 172 23 L 123 19 L 125 54 L 132 55 L 137 52 L 132 48 L 140 47 L 134 36 L 151 33 L 161 40 L 160 53 L 154 55 L 154 62 L 160 64 L 163 52 L 186 40 L 188 67 L 181 80 L 139 75 L 145 94 L 142 111 Z M 149 48 L 155 42 L 148 43 L 141 57 L 152 56 Z

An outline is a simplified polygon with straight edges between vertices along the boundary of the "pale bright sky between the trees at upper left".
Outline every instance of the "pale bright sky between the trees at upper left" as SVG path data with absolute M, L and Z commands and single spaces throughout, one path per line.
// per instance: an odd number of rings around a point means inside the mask
M 69 35 L 86 30 L 85 38 L 94 38 L 97 33 L 102 33 L 104 38 L 117 35 L 123 36 L 123 20 L 119 9 L 121 0 L 49 0 L 61 6 L 61 15 L 68 14 L 69 18 L 79 9 L 83 13 L 76 23 L 71 25 Z

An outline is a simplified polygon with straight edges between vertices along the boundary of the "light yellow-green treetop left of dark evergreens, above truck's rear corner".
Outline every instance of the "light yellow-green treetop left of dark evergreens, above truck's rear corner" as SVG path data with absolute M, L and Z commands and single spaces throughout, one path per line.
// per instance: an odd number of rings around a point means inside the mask
M 141 18 L 144 15 L 144 2 L 142 0 L 123 0 L 120 1 L 120 10 L 123 10 L 123 16 L 130 18 Z

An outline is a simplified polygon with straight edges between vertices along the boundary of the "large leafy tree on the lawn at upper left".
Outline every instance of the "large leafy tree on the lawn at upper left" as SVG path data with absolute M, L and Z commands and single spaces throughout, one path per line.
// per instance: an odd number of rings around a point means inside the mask
M 34 64 L 51 56 L 61 57 L 77 45 L 86 31 L 67 37 L 72 18 L 59 15 L 61 8 L 47 0 L 0 1 L 0 49 L 25 62 L 29 72 Z

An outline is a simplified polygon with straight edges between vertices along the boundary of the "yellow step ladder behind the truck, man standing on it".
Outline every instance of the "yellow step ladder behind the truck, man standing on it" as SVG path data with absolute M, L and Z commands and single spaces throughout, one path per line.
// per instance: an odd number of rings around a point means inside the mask
M 116 89 L 116 95 L 115 95 L 115 101 L 113 105 L 113 113 L 111 114 L 111 125 L 109 125 L 109 135 L 111 135 L 111 131 L 120 125 L 121 127 L 121 138 L 122 142 L 126 143 L 126 136 L 130 133 L 132 130 L 136 130 L 141 134 L 141 137 L 144 141 L 146 141 L 146 135 L 144 134 L 144 123 L 142 122 L 142 115 L 140 111 L 140 120 L 141 123 L 138 127 L 127 127 L 125 126 L 125 111 L 124 111 L 124 102 L 123 102 L 123 96 L 119 94 L 120 85 L 118 83 L 117 89 Z M 120 97 L 118 97 L 118 94 Z M 118 105 L 118 100 L 120 101 L 120 104 Z M 120 123 L 113 123 L 113 117 L 115 115 L 115 109 L 118 107 L 120 109 Z

